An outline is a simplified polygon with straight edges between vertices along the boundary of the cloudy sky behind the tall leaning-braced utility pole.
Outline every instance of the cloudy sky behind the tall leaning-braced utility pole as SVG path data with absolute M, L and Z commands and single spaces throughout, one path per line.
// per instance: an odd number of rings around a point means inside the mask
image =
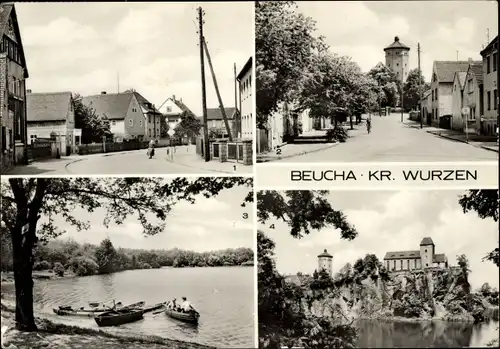
M 200 4 L 222 100 L 234 107 L 234 63 L 239 73 L 254 53 L 252 2 L 17 3 L 27 88 L 116 93 L 119 77 L 121 92 L 134 88 L 157 107 L 175 95 L 201 115 Z M 205 64 L 207 107 L 217 108 Z

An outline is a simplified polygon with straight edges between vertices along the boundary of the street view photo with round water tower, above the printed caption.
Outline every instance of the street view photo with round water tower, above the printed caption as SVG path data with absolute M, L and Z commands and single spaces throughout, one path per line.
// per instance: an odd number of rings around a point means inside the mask
M 258 1 L 257 162 L 498 161 L 496 1 Z

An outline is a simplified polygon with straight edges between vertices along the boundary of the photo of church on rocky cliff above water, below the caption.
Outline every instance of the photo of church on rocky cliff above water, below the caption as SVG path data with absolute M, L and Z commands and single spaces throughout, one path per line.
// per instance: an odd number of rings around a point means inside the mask
M 260 348 L 498 347 L 497 190 L 257 191 Z

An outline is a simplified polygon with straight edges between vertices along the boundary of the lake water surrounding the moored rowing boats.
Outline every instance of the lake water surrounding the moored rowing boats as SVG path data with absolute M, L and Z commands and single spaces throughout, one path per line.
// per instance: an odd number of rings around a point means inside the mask
M 14 292 L 13 285 L 2 289 Z M 97 328 L 93 318 L 57 316 L 52 308 L 59 305 L 88 307 L 88 302 L 113 300 L 123 304 L 142 300 L 155 304 L 173 298 L 180 301 L 183 296 L 200 312 L 197 327 L 171 319 L 164 313 L 149 313 L 144 315 L 144 320 L 105 330 L 157 335 L 217 347 L 255 346 L 254 272 L 251 267 L 129 270 L 36 281 L 34 286 L 37 312 L 62 323 L 92 328 Z

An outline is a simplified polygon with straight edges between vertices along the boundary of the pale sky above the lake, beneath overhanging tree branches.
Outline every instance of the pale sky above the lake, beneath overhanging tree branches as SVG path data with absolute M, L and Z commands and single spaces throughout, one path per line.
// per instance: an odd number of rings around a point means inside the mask
M 91 215 L 76 210 L 74 217 L 88 220 L 91 228 L 78 232 L 57 218 L 56 223 L 60 222 L 59 226 L 66 230 L 58 239 L 99 244 L 109 238 L 115 247 L 165 250 L 177 247 L 196 252 L 239 247 L 253 249 L 253 205 L 240 206 L 248 191 L 248 187 L 234 187 L 214 198 L 198 196 L 195 204 L 179 202 L 168 215 L 165 230 L 148 237 L 142 235 L 142 226 L 136 218 L 131 217 L 123 225 L 111 225 L 106 229 L 102 224 L 103 210 L 96 210 Z M 243 218 L 244 213 L 248 214 L 247 219 Z

